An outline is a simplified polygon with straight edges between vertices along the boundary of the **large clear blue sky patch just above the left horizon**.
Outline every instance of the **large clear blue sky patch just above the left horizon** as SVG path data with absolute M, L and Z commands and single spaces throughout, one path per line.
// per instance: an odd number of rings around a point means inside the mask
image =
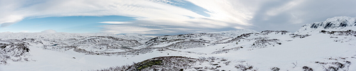
M 0 28 L 0 32 L 41 32 L 53 29 L 68 33 L 98 33 L 105 21 L 133 21 L 134 17 L 125 16 L 69 16 L 24 19 L 11 26 Z

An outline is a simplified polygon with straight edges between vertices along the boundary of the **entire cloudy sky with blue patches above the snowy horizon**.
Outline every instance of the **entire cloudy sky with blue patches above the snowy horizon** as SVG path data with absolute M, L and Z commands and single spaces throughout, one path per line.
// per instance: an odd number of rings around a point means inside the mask
M 356 0 L 0 0 L 0 32 L 295 32 L 355 12 Z

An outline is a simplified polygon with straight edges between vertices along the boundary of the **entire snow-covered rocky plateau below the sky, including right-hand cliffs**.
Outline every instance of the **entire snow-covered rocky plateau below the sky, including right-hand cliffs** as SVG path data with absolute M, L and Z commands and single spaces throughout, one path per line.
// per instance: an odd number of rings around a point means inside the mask
M 297 32 L 0 33 L 0 71 L 356 71 L 356 18 Z

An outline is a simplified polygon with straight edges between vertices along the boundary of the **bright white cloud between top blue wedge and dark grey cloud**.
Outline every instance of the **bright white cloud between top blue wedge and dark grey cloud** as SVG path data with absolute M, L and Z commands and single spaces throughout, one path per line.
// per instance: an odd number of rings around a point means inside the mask
M 230 22 L 251 26 L 248 23 L 253 18 L 259 4 L 264 1 L 244 0 L 188 0 L 204 9 L 209 10 L 212 20 Z

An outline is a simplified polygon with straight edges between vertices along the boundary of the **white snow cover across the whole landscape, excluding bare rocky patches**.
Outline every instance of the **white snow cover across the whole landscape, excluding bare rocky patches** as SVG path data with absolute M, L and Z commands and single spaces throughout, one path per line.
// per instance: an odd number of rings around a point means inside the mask
M 340 19 L 341 18 L 341 19 Z M 338 21 L 339 19 L 339 21 Z M 342 22 L 342 20 L 348 20 L 348 24 L 355 22 L 355 18 L 352 17 L 334 17 L 329 18 L 325 22 Z M 153 45 L 151 50 L 147 50 L 147 53 L 137 53 L 131 55 L 91 55 L 88 53 L 79 53 L 74 51 L 74 49 L 61 50 L 61 49 L 45 49 L 44 45 L 50 45 L 51 41 L 56 41 L 58 43 L 63 43 L 62 46 L 66 46 L 67 43 L 78 43 L 70 42 L 72 38 L 74 39 L 89 39 L 90 36 L 112 36 L 116 38 L 126 39 L 126 40 L 139 40 L 139 45 L 132 47 L 133 49 L 145 49 L 145 43 L 153 42 L 155 40 L 150 40 L 151 38 L 143 37 L 139 34 L 127 34 L 127 35 L 116 35 L 116 34 L 79 34 L 79 33 L 10 33 L 3 32 L 0 33 L 0 40 L 8 39 L 23 39 L 23 38 L 34 38 L 35 41 L 41 41 L 43 44 L 23 41 L 30 44 L 30 55 L 26 56 L 30 60 L 36 61 L 25 61 L 25 62 L 14 62 L 9 60 L 7 65 L 0 65 L 0 71 L 87 71 L 87 70 L 97 70 L 104 69 L 112 66 L 121 65 L 132 65 L 132 62 L 141 62 L 147 59 L 161 57 L 161 56 L 185 56 L 190 58 L 199 57 L 216 57 L 224 58 L 232 61 L 228 66 L 222 63 L 211 62 L 212 64 L 219 64 L 220 70 L 232 70 L 237 71 L 234 66 L 237 64 L 249 64 L 259 71 L 268 71 L 272 67 L 278 67 L 280 71 L 302 71 L 303 66 L 308 66 L 313 68 L 314 71 L 323 71 L 323 64 L 315 63 L 318 62 L 340 62 L 350 61 L 351 65 L 349 71 L 356 71 L 356 34 L 353 35 L 337 35 L 329 33 L 320 33 L 321 30 L 325 31 L 346 31 L 354 30 L 356 26 L 350 25 L 347 27 L 332 27 L 332 28 L 310 28 L 310 24 L 305 25 L 299 31 L 295 33 L 286 32 L 282 34 L 281 32 L 272 31 L 271 33 L 264 34 L 253 30 L 239 30 L 239 31 L 224 31 L 224 32 L 211 32 L 216 34 L 188 34 L 194 35 L 193 38 L 183 38 L 179 35 L 173 36 L 160 36 L 157 37 L 157 41 L 164 40 L 175 40 L 182 39 L 173 42 L 157 42 Z M 356 30 L 354 30 L 356 31 Z M 242 39 L 233 41 L 234 38 L 240 36 L 241 34 L 250 34 L 250 36 L 243 37 Z M 310 34 L 310 36 L 304 38 L 293 38 L 294 35 L 290 34 Z M 214 35 L 215 37 L 209 37 Z M 220 36 L 221 35 L 221 36 Z M 81 37 L 79 37 L 81 36 Z M 162 39 L 162 38 L 167 39 Z M 335 38 L 337 37 L 337 38 Z M 209 40 L 205 47 L 201 48 L 188 48 L 188 49 L 172 49 L 161 48 L 168 46 L 173 43 L 180 41 L 190 41 L 190 40 Z M 253 44 L 257 44 L 258 40 L 268 40 L 268 39 L 278 39 L 281 44 L 272 44 L 273 42 L 266 43 L 265 48 L 251 47 Z M 103 39 L 104 40 L 104 39 Z M 105 39 L 109 40 L 109 39 Z M 231 42 L 229 42 L 231 41 Z M 224 43 L 229 42 L 229 43 Z M 238 44 L 236 44 L 238 42 Z M 5 41 L 0 41 L 0 43 L 8 43 Z M 64 44 L 65 43 L 65 44 Z M 213 43 L 216 43 L 213 45 Z M 88 43 L 83 43 L 88 44 Z M 53 44 L 51 44 L 53 45 Z M 61 46 L 61 45 L 58 45 Z M 242 48 L 241 48 L 242 47 Z M 46 47 L 51 48 L 51 47 Z M 81 47 L 84 48 L 84 47 Z M 228 50 L 226 53 L 212 54 L 214 51 L 224 50 L 224 49 L 234 49 Z M 162 49 L 162 50 L 161 50 Z M 163 50 L 164 49 L 164 50 Z M 166 50 L 167 49 L 167 50 Z M 89 50 L 89 48 L 88 48 Z M 90 50 L 99 50 L 106 53 L 123 52 L 126 50 L 122 49 L 95 49 L 90 48 Z M 176 51 L 175 51 L 176 50 Z M 188 53 L 187 51 L 194 52 Z M 136 53 L 136 52 L 135 52 Z M 204 53 L 204 54 L 200 54 Z M 331 58 L 331 59 L 329 59 Z M 344 58 L 344 59 L 342 59 Z M 336 60 L 334 60 L 336 59 Z M 246 62 L 242 62 L 246 61 Z M 297 63 L 294 66 L 291 63 Z M 195 66 L 208 66 L 211 63 L 201 63 L 202 65 Z M 347 64 L 346 64 L 347 65 Z M 332 64 L 325 64 L 325 66 L 333 66 Z M 343 69 L 346 69 L 343 68 Z M 187 69 L 191 71 L 196 71 L 195 69 Z M 339 70 L 341 71 L 341 70 Z

